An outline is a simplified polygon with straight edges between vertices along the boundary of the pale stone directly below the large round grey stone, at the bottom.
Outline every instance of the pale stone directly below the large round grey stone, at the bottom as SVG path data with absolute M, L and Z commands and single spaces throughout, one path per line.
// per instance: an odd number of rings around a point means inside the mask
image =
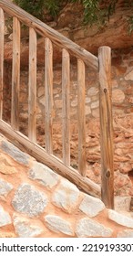
M 15 233 L 19 238 L 34 238 L 44 231 L 44 229 L 40 227 L 39 221 L 33 224 L 29 219 L 24 217 L 15 217 L 13 224 Z

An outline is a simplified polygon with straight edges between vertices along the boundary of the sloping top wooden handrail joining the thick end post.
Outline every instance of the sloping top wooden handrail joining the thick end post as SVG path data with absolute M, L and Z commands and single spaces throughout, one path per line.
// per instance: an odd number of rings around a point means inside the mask
M 89 53 L 86 49 L 79 47 L 76 43 L 72 42 L 67 37 L 64 37 L 53 28 L 48 27 L 35 16 L 27 14 L 26 11 L 7 0 L 0 0 L 0 7 L 2 7 L 8 15 L 17 17 L 19 21 L 23 22 L 27 27 L 33 27 L 39 35 L 48 37 L 60 48 L 67 48 L 71 54 L 82 59 L 87 66 L 96 70 L 98 69 L 96 56 Z

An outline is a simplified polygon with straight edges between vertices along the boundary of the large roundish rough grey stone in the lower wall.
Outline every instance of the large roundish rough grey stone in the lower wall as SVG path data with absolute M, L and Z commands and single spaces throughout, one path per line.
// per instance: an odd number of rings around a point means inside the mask
M 29 217 L 36 217 L 44 212 L 47 206 L 47 196 L 36 187 L 24 183 L 15 191 L 12 205 L 16 211 L 25 213 Z

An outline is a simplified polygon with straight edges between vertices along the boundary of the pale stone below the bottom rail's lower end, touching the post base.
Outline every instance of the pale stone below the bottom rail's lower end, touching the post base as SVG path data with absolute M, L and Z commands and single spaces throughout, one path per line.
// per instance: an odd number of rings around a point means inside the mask
M 104 203 L 96 198 L 91 196 L 85 196 L 81 202 L 79 209 L 88 215 L 88 217 L 95 217 L 97 214 L 105 208 Z

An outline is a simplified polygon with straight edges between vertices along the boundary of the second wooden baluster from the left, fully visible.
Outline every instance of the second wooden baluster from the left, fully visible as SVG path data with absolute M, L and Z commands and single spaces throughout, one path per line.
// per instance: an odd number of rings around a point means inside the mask
M 19 129 L 19 86 L 20 86 L 20 22 L 13 18 L 13 67 L 12 67 L 12 101 L 11 126 Z

